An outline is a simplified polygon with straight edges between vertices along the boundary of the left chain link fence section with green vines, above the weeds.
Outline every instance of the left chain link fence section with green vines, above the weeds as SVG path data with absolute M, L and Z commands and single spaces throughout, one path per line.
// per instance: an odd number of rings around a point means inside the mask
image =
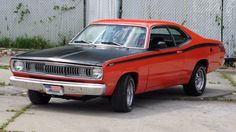
M 1 0 L 0 36 L 69 39 L 83 28 L 83 0 Z

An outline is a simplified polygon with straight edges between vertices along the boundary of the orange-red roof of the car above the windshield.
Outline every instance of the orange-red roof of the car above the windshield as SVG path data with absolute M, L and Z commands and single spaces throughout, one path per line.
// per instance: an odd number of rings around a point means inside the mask
M 107 19 L 107 20 L 98 20 L 92 24 L 124 24 L 124 25 L 135 25 L 143 27 L 151 27 L 153 25 L 173 25 L 180 26 L 174 22 L 168 21 L 159 21 L 159 20 L 139 20 L 139 19 Z

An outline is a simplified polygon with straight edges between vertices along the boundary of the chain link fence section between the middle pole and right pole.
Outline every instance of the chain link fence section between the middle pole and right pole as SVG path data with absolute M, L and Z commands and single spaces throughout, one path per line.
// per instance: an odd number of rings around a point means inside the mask
M 177 22 L 208 38 L 221 40 L 221 0 L 123 0 L 122 18 Z

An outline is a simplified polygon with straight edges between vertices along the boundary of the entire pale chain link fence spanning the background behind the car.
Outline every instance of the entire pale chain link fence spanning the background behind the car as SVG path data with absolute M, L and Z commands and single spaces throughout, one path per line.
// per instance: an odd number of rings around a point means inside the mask
M 0 12 L 0 37 L 57 42 L 98 19 L 167 20 L 223 40 L 226 57 L 236 58 L 236 0 L 2 0 Z

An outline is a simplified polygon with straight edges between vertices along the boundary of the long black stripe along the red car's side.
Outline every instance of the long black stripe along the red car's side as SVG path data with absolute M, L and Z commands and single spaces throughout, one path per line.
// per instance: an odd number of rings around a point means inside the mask
M 219 44 L 215 44 L 215 43 L 198 44 L 198 45 L 194 45 L 192 47 L 188 47 L 186 49 L 183 49 L 182 52 L 187 52 L 187 51 L 194 50 L 194 49 L 197 49 L 197 48 L 211 47 L 211 46 L 219 46 Z M 141 59 L 153 58 L 153 57 L 158 57 L 158 56 L 166 56 L 166 55 L 177 54 L 177 52 L 178 51 L 172 51 L 172 52 L 159 53 L 159 54 L 147 55 L 147 56 L 142 56 L 142 57 L 133 58 L 133 59 L 117 61 L 117 62 L 113 62 L 111 64 L 108 64 L 108 66 L 112 66 L 114 64 L 120 64 L 120 63 L 126 63 L 126 62 L 130 62 L 130 61 L 137 61 L 137 60 L 141 60 Z

